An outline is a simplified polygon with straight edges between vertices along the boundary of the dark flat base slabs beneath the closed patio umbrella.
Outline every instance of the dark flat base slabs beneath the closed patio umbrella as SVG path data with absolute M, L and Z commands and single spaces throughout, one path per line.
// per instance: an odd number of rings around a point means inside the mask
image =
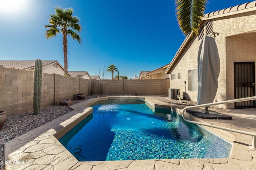
M 225 119 L 225 120 L 232 120 L 232 116 L 224 115 L 215 111 L 209 111 L 209 114 L 203 113 L 203 111 L 193 111 L 193 110 L 186 110 L 186 112 L 192 114 L 193 116 L 199 117 L 201 119 Z

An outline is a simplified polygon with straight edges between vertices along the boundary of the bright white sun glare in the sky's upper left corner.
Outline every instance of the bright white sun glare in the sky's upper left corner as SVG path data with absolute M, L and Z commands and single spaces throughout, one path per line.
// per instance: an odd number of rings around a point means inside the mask
M 0 0 L 1 13 L 17 13 L 23 10 L 27 0 Z

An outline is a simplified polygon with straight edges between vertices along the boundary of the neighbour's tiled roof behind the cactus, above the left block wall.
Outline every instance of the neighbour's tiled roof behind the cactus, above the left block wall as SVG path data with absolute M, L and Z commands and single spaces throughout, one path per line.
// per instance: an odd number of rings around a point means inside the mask
M 20 68 L 21 70 L 28 70 L 30 68 L 34 67 L 34 60 L 12 60 L 12 61 L 0 61 L 0 65 L 3 65 L 3 67 L 14 67 L 14 68 Z M 43 67 L 48 66 L 50 64 L 58 63 L 62 68 L 63 66 L 57 61 L 57 60 L 43 60 Z M 64 68 L 63 68 L 64 70 Z

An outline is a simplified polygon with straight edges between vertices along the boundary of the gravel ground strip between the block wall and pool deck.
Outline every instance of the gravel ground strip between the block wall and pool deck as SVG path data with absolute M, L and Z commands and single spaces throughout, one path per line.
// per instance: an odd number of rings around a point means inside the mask
M 103 96 L 123 96 L 123 95 L 103 95 Z M 129 96 L 132 96 L 132 95 L 129 95 Z M 179 100 L 170 100 L 166 95 L 157 95 L 157 96 L 150 95 L 150 96 L 154 96 L 154 98 L 168 104 L 182 104 L 186 106 L 196 105 L 196 102 L 188 101 L 188 100 L 182 100 L 182 103 L 180 103 Z M 92 97 L 94 96 L 86 96 L 86 99 L 92 98 Z M 72 104 L 76 104 L 79 101 L 71 100 L 71 102 Z M 30 111 L 21 115 L 8 117 L 4 127 L 0 130 L 0 162 L 4 160 L 4 143 L 35 129 L 36 127 L 42 126 L 45 123 L 48 123 L 53 119 L 56 119 L 70 111 L 72 111 L 72 109 L 67 106 L 65 109 L 65 106 L 52 105 L 52 106 L 42 108 L 40 115 L 33 115 L 33 111 Z M 4 169 L 4 165 L 0 164 L 0 170 L 3 170 L 3 169 Z

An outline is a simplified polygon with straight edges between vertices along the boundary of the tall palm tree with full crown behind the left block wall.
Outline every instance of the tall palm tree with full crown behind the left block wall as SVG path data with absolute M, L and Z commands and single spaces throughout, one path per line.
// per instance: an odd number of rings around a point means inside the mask
M 81 25 L 79 25 L 79 18 L 72 16 L 73 9 L 62 9 L 61 7 L 55 8 L 55 14 L 50 15 L 48 25 L 44 25 L 47 28 L 44 35 L 47 39 L 55 37 L 58 33 L 63 34 L 63 53 L 64 53 L 64 74 L 68 75 L 68 39 L 72 37 L 73 40 L 77 40 L 81 44 L 81 38 L 78 33 L 81 31 Z M 78 33 L 76 33 L 78 32 Z

